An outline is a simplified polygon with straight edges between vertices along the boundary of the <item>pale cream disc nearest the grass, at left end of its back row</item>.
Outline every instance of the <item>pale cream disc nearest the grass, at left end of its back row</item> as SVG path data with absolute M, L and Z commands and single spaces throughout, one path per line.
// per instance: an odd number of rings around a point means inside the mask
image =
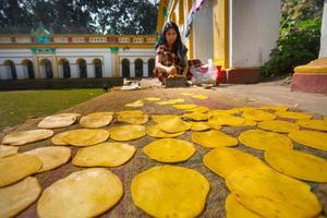
M 55 129 L 55 128 L 64 128 L 73 124 L 77 117 L 81 114 L 78 113 L 59 113 L 55 116 L 49 116 L 43 119 L 37 126 L 43 129 Z

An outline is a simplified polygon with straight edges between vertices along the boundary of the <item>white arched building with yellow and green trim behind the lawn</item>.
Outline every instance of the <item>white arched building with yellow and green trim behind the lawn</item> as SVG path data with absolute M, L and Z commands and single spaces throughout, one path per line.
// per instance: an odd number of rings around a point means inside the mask
M 157 36 L 0 35 L 0 80 L 148 77 Z

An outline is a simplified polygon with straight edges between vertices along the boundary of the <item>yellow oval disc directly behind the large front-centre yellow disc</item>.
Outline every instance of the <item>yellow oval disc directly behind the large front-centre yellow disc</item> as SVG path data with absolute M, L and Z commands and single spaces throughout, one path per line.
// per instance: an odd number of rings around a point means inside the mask
M 186 141 L 162 138 L 146 145 L 143 152 L 159 162 L 181 162 L 191 158 L 196 149 Z

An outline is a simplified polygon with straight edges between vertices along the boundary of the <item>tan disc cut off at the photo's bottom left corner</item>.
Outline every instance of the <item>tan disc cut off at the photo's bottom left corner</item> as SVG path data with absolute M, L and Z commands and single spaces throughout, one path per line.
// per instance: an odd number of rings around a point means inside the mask
M 14 217 L 32 205 L 41 192 L 36 178 L 0 189 L 0 217 Z

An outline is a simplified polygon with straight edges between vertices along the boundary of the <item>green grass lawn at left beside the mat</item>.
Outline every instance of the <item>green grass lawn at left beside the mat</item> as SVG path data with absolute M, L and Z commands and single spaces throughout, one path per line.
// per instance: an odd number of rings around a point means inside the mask
M 100 94 L 99 88 L 0 92 L 0 130 L 31 117 L 53 114 Z

